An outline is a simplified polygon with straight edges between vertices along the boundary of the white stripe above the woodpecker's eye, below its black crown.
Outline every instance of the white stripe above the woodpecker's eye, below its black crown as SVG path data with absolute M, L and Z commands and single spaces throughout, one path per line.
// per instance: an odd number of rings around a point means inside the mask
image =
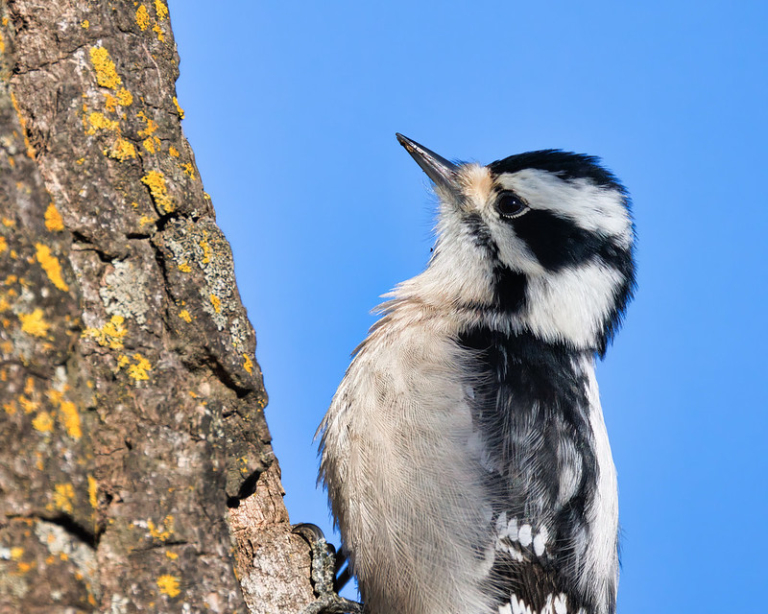
M 584 230 L 613 237 L 622 247 L 632 243 L 632 220 L 618 190 L 587 179 L 566 181 L 538 169 L 502 175 L 498 182 L 524 198 L 532 209 L 560 214 Z

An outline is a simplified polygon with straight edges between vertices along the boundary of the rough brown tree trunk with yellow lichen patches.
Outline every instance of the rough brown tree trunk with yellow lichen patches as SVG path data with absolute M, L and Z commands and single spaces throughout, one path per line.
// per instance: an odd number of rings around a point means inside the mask
M 299 611 L 308 550 L 165 4 L 0 19 L 0 614 Z

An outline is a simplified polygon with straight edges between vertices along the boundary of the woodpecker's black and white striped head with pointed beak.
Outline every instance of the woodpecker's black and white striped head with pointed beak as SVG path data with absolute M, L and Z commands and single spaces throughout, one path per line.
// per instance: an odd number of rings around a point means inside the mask
M 555 149 L 453 163 L 398 134 L 440 199 L 427 270 L 398 288 L 470 325 L 604 354 L 635 285 L 627 191 Z

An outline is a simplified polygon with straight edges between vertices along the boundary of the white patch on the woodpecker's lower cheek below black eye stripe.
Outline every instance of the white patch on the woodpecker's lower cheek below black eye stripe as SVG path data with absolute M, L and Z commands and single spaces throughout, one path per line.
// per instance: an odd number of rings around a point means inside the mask
M 597 263 L 531 277 L 523 321 L 548 341 L 592 347 L 622 281 L 616 269 Z

